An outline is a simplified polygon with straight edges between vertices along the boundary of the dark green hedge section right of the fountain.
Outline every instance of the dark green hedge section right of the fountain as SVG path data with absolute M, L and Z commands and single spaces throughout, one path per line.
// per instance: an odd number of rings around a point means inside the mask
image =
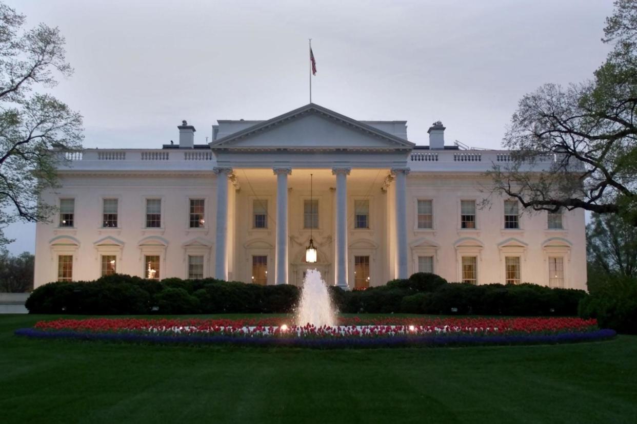
M 536 284 L 473 285 L 416 273 L 406 280 L 365 291 L 332 289 L 340 311 L 347 313 L 428 313 L 443 315 L 577 315 L 585 292 Z

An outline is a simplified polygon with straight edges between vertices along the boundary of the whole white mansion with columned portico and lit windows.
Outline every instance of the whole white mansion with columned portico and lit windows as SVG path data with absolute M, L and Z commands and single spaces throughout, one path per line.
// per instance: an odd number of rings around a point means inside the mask
M 481 207 L 484 172 L 510 154 L 445 146 L 440 122 L 429 146 L 408 141 L 406 121 L 316 104 L 220 120 L 210 144 L 178 128 L 178 144 L 158 149 L 59 153 L 61 188 L 42 196 L 59 214 L 37 227 L 36 287 L 114 272 L 301 285 L 310 266 L 350 289 L 417 271 L 586 287 L 583 212 L 529 214 L 508 198 Z

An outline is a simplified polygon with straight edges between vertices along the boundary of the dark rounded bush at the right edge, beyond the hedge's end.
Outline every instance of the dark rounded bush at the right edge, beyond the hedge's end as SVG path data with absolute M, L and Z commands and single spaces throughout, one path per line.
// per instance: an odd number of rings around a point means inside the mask
M 582 318 L 596 318 L 600 327 L 637 334 L 637 280 L 609 278 L 580 301 L 579 313 Z

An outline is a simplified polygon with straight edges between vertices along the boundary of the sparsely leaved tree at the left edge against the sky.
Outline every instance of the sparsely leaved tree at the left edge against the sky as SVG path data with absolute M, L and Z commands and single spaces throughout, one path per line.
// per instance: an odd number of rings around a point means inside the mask
M 48 93 L 54 73 L 70 76 L 64 37 L 39 24 L 25 30 L 24 15 L 0 3 L 0 246 L 2 228 L 16 220 L 46 221 L 54 207 L 39 205 L 39 194 L 57 186 L 52 154 L 80 149 L 82 116 Z

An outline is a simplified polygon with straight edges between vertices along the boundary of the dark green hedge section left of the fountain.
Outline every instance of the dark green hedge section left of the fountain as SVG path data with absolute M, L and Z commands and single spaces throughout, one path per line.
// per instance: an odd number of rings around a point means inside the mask
M 30 313 L 122 315 L 159 313 L 287 313 L 299 298 L 292 285 L 262 286 L 214 278 L 145 280 L 110 275 L 94 282 L 54 282 L 35 289 Z

